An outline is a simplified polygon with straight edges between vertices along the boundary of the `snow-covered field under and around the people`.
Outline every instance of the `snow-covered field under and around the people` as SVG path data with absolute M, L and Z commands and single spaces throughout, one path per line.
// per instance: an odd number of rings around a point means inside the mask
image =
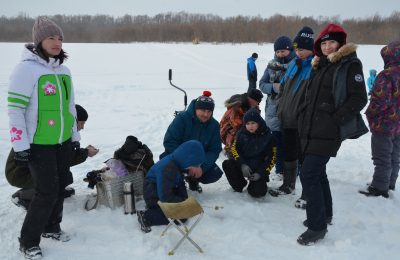
M 382 46 L 360 46 L 358 55 L 364 75 L 380 71 Z M 18 251 L 25 211 L 14 206 L 10 196 L 16 188 L 4 176 L 4 164 L 11 148 L 7 118 L 7 87 L 10 73 L 20 59 L 22 43 L 0 43 L 0 259 L 21 259 Z M 83 206 L 92 192 L 82 181 L 86 173 L 103 167 L 103 161 L 135 135 L 153 151 L 163 152 L 162 140 L 173 112 L 183 109 L 183 94 L 189 102 L 203 90 L 216 101 L 214 117 L 223 115 L 224 101 L 247 90 L 246 58 L 258 52 L 261 78 L 273 56 L 272 44 L 64 44 L 70 55 L 66 65 L 72 71 L 76 103 L 89 112 L 81 145 L 92 144 L 100 153 L 73 167 L 76 195 L 64 203 L 62 228 L 72 240 L 60 243 L 42 240 L 44 259 L 400 259 L 400 185 L 390 198 L 367 198 L 357 190 L 371 180 L 370 134 L 343 143 L 337 158 L 328 164 L 334 216 L 326 238 L 303 247 L 297 237 L 305 231 L 305 211 L 294 207 L 301 193 L 278 198 L 267 195 L 253 199 L 247 192 L 234 193 L 223 176 L 217 183 L 202 185 L 202 194 L 189 192 L 205 208 L 205 216 L 191 237 L 203 249 L 198 253 L 187 241 L 175 256 L 167 252 L 181 237 L 170 230 L 161 238 L 163 227 L 143 234 L 135 215 L 101 207 L 90 212 Z M 264 110 L 264 102 L 262 102 Z M 263 111 L 264 113 L 264 111 Z M 221 155 L 217 163 L 223 161 Z M 280 182 L 270 182 L 277 187 Z M 213 206 L 223 206 L 221 210 Z

